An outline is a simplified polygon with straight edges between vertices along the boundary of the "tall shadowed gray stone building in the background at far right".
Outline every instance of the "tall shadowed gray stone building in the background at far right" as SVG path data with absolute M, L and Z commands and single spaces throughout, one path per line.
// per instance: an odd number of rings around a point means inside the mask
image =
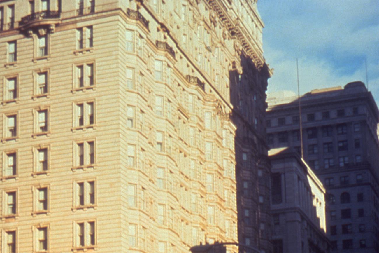
M 377 252 L 379 113 L 362 82 L 269 98 L 271 148 L 293 147 L 326 187 L 327 235 L 336 252 Z M 301 120 L 300 120 L 301 119 Z

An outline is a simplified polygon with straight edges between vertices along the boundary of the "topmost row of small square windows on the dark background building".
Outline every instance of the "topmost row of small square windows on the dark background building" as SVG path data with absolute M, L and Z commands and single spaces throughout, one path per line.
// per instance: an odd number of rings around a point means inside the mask
M 351 109 L 351 110 L 350 110 Z M 337 111 L 325 111 L 321 113 L 308 113 L 305 118 L 302 118 L 302 122 L 312 122 L 316 120 L 327 120 L 331 118 L 341 118 L 345 116 L 357 116 L 359 115 L 359 108 L 352 107 L 349 109 L 338 109 Z M 267 119 L 266 127 L 285 126 L 288 124 L 299 124 L 299 115 L 289 117 L 279 117 L 277 119 Z

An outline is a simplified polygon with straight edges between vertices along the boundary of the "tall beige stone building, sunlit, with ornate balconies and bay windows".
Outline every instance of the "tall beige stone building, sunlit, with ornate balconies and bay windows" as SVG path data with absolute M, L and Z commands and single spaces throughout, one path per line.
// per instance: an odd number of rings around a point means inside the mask
M 270 251 L 262 27 L 252 0 L 0 1 L 1 251 Z

